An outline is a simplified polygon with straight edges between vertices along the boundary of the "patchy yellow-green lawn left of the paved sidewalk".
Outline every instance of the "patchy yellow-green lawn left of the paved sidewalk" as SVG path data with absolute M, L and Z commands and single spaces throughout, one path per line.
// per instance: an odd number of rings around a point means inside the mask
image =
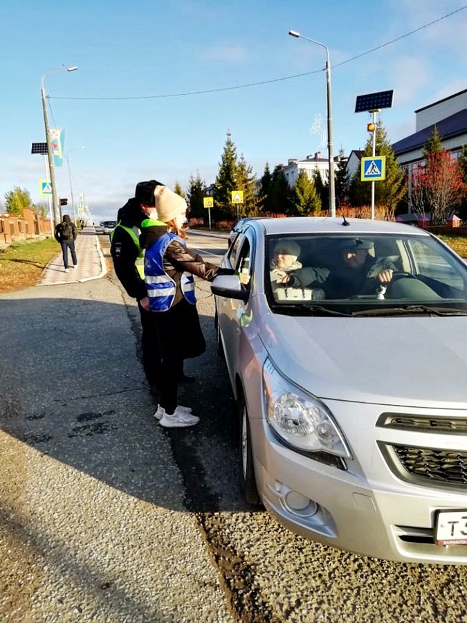
M 15 242 L 0 251 L 0 292 L 35 285 L 52 258 L 61 253 L 53 238 L 35 242 Z

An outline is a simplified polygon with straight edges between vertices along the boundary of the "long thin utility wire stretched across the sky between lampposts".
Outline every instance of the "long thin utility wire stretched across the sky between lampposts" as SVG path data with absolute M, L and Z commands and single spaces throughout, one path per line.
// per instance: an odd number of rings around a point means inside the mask
M 464 6 L 461 6 L 460 8 L 456 10 L 451 11 L 450 13 L 446 13 L 446 15 L 442 15 L 441 17 L 438 17 L 437 19 L 433 19 L 432 21 L 429 21 L 427 24 L 423 24 L 423 26 L 419 26 L 419 28 L 410 30 L 410 32 L 405 33 L 405 35 L 401 35 L 400 37 L 391 39 L 391 41 L 381 44 L 381 46 L 376 46 L 376 48 L 372 48 L 371 50 L 367 50 L 366 52 L 362 52 L 361 54 L 352 56 L 351 58 L 348 58 L 345 61 L 336 63 L 335 65 L 333 65 L 333 69 L 336 69 L 336 67 L 341 67 L 342 65 L 345 65 L 351 61 L 356 60 L 357 58 L 366 56 L 367 54 L 371 54 L 372 52 L 376 52 L 376 50 L 381 50 L 381 48 L 385 48 L 386 46 L 390 46 L 391 44 L 397 41 L 401 41 L 401 39 L 405 39 L 405 37 L 410 37 L 410 35 L 413 35 L 414 33 L 418 33 L 420 30 L 423 30 L 424 28 L 428 28 L 428 26 L 437 24 L 439 21 L 446 19 L 447 17 L 451 17 L 451 15 L 455 15 L 456 13 L 459 13 L 460 11 L 463 11 L 466 8 L 467 8 L 467 4 L 464 4 Z M 273 78 L 272 80 L 262 80 L 261 82 L 250 82 L 248 84 L 237 84 L 235 87 L 219 87 L 217 89 L 205 89 L 203 91 L 187 91 L 185 93 L 165 93 L 163 95 L 156 95 L 156 96 L 126 96 L 126 97 L 110 97 L 110 98 L 93 98 L 93 97 L 66 98 L 66 97 L 58 97 L 58 96 L 47 96 L 47 98 L 53 99 L 53 100 L 156 100 L 156 99 L 162 99 L 162 98 L 181 98 L 181 97 L 186 97 L 186 96 L 202 95 L 203 93 L 219 93 L 221 91 L 234 91 L 235 89 L 249 89 L 250 87 L 260 87 L 263 84 L 272 84 L 273 82 L 293 80 L 294 78 L 302 78 L 304 75 L 312 75 L 313 73 L 321 73 L 322 71 L 324 71 L 324 68 L 315 69 L 313 71 L 306 71 L 305 73 L 295 73 L 294 75 L 286 75 L 283 78 Z

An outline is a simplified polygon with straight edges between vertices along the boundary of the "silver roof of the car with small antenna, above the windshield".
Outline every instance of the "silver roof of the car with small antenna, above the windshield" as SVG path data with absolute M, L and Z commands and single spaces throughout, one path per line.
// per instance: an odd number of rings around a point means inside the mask
M 422 229 L 402 223 L 390 221 L 372 221 L 371 219 L 345 219 L 342 217 L 281 217 L 277 219 L 252 219 L 245 223 L 253 228 L 262 228 L 266 235 L 277 234 L 395 234 L 395 235 L 422 235 L 429 237 L 430 234 Z

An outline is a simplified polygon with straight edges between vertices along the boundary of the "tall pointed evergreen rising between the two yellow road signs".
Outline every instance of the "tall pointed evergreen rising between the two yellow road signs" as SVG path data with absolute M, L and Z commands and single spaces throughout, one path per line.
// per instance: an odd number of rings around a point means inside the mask
M 217 220 L 237 217 L 237 208 L 232 205 L 232 190 L 237 188 L 237 148 L 227 132 L 226 144 L 223 147 L 219 171 L 217 172 L 214 191 L 214 210 Z

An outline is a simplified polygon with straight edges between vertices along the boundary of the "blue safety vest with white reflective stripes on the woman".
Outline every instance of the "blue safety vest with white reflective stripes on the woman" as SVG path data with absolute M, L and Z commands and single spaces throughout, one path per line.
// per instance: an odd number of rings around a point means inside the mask
M 167 311 L 174 303 L 176 282 L 167 275 L 163 264 L 165 251 L 172 240 L 177 240 L 186 246 L 181 238 L 167 232 L 145 252 L 145 282 L 151 311 Z M 191 273 L 182 273 L 180 286 L 185 299 L 194 305 L 196 296 L 194 295 L 194 279 Z

